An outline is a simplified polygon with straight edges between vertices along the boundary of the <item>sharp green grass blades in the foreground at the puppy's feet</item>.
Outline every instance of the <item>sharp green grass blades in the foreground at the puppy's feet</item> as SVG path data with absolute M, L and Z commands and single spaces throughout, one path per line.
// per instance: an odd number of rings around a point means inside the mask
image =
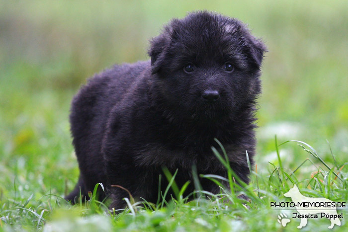
M 4 231 L 23 229 L 44 231 L 293 231 L 299 225 L 299 219 L 292 219 L 289 211 L 273 211 L 270 202 L 288 202 L 283 194 L 294 184 L 299 186 L 302 194 L 311 197 L 325 197 L 333 201 L 348 201 L 348 173 L 343 171 L 346 164 L 336 163 L 330 167 L 321 159 L 316 151 L 301 141 L 286 141 L 279 146 L 288 146 L 295 142 L 307 153 L 308 157 L 294 170 L 270 163 L 273 170 L 266 176 L 252 171 L 252 182 L 249 185 L 236 184 L 238 176 L 226 162 L 226 154 L 215 154 L 226 166 L 229 178 L 214 175 L 201 175 L 222 186 L 222 181 L 229 183 L 231 191 L 221 188 L 220 194 L 212 194 L 196 190 L 196 199 L 188 201 L 183 196 L 185 186 L 178 189 L 175 175 L 165 171 L 170 180 L 162 196 L 165 198 L 169 188 L 173 188 L 176 197 L 167 202 L 159 198 L 157 204 L 147 201 L 134 202 L 132 196 L 126 198 L 128 207 L 124 210 L 108 211 L 107 204 L 95 199 L 97 185 L 90 195 L 90 200 L 71 206 L 61 196 L 46 194 L 35 200 L 33 194 L 24 198 L 19 194 L 18 185 L 13 183 L 13 197 L 1 202 L 1 229 Z M 334 156 L 333 156 L 334 157 Z M 298 179 L 307 160 L 310 166 L 318 171 L 307 179 Z M 320 165 L 315 163 L 318 161 Z M 175 185 L 175 187 L 174 187 Z M 236 193 L 243 193 L 250 201 L 238 198 Z M 347 216 L 347 209 L 342 211 Z M 277 215 L 286 213 L 291 222 L 282 228 L 277 223 Z M 306 231 L 326 231 L 330 225 L 327 219 L 309 220 Z M 346 231 L 348 226 L 345 219 L 336 231 Z

